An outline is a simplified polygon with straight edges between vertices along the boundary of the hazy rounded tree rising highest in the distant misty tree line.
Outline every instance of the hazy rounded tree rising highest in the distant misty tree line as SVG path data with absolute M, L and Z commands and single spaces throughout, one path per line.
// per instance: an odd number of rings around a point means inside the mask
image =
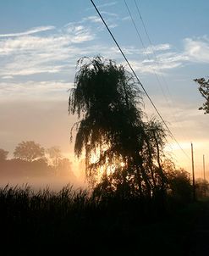
M 32 162 L 44 157 L 44 148 L 35 142 L 20 142 L 14 150 L 14 158 Z

